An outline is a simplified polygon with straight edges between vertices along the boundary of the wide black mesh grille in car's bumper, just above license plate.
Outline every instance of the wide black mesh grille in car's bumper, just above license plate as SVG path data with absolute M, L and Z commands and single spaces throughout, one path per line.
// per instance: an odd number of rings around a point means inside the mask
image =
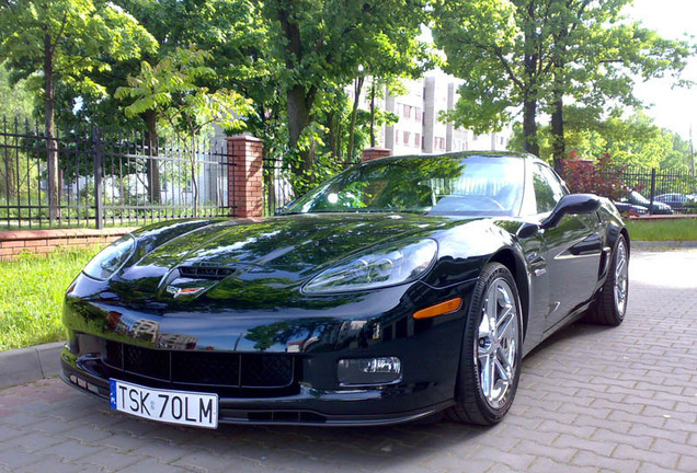
M 116 371 L 171 383 L 285 388 L 295 381 L 292 355 L 176 351 L 106 341 L 102 360 Z

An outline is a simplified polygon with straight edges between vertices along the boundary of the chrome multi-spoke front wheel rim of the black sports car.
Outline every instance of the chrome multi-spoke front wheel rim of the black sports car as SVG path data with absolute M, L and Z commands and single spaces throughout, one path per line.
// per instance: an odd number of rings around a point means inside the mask
M 519 330 L 513 290 L 505 279 L 498 278 L 487 291 L 476 347 L 482 394 L 493 408 L 504 405 L 511 391 Z

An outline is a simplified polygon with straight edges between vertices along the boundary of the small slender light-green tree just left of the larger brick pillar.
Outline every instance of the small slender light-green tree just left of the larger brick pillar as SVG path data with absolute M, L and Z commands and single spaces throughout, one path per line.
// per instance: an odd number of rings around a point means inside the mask
M 130 99 L 126 114 L 134 116 L 153 109 L 178 136 L 188 157 L 194 189 L 194 216 L 198 212 L 197 139 L 213 123 L 224 127 L 243 127 L 240 117 L 251 112 L 250 101 L 236 91 L 215 92 L 201 85 L 215 77 L 205 62 L 210 53 L 176 48 L 155 67 L 141 62 L 140 73 L 128 78 L 128 86 L 116 91 L 117 99 Z

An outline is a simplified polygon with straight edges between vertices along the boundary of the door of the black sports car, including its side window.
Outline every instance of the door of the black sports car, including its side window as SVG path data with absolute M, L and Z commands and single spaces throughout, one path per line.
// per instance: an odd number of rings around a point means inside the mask
M 533 162 L 532 178 L 539 223 L 568 191 L 557 174 L 541 162 Z M 557 227 L 544 230 L 541 254 L 549 278 L 545 331 L 592 297 L 597 285 L 602 250 L 597 212 L 565 215 Z

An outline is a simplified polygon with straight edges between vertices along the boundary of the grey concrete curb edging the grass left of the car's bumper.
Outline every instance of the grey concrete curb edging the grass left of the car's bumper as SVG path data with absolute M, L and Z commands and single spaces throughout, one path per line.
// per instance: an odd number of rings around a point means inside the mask
M 58 374 L 64 345 L 54 342 L 0 353 L 0 389 Z

